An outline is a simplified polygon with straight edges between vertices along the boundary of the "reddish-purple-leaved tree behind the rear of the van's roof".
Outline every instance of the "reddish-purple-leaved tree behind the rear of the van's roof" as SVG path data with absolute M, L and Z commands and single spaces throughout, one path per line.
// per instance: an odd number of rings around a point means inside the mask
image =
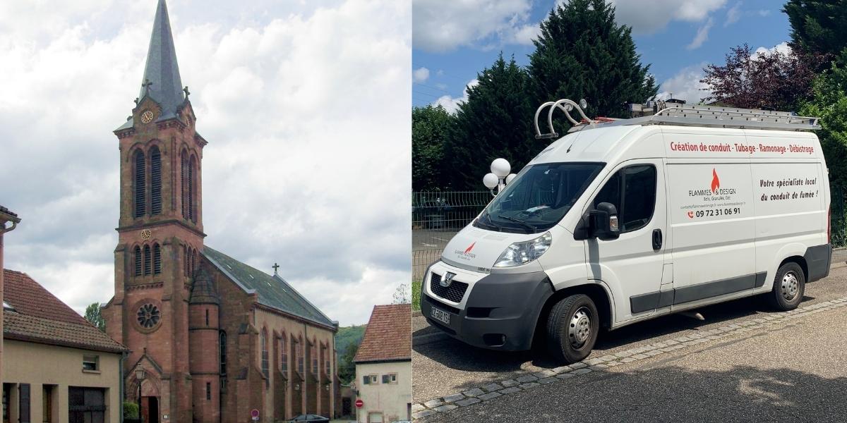
M 700 82 L 711 89 L 711 96 L 704 101 L 796 110 L 811 96 L 815 72 L 809 58 L 778 50 L 753 52 L 747 44 L 733 47 L 726 55 L 726 64 L 710 64 L 703 69 L 706 74 Z

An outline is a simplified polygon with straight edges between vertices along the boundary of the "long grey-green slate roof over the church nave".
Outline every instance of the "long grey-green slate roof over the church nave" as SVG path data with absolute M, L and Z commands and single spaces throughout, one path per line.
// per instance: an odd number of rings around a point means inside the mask
M 203 247 L 202 254 L 247 294 L 258 294 L 259 304 L 302 317 L 322 326 L 335 327 L 335 323 L 329 320 L 329 317 L 279 275 L 270 276 L 208 246 Z

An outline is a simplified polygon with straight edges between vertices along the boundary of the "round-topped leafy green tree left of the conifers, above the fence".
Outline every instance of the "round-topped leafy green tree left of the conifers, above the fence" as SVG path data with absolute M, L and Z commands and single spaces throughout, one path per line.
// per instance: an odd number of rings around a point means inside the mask
M 446 188 L 442 165 L 452 118 L 441 106 L 412 108 L 412 191 Z

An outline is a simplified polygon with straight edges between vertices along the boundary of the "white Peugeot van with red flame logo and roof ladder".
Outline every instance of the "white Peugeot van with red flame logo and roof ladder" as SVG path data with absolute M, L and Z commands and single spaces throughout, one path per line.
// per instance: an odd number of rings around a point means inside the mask
M 429 322 L 488 349 L 529 349 L 544 337 L 570 363 L 590 353 L 601 327 L 756 294 L 778 310 L 797 307 L 832 255 L 828 171 L 809 131 L 817 118 L 657 106 L 602 123 L 569 100 L 540 107 L 550 107 L 548 123 L 556 108 L 584 120 L 567 113 L 571 133 L 429 266 Z

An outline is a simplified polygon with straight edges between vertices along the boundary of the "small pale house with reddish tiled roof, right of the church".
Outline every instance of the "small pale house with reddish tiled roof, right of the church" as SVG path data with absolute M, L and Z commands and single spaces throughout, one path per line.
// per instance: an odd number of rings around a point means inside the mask
M 376 305 L 356 363 L 357 421 L 412 420 L 412 306 Z

